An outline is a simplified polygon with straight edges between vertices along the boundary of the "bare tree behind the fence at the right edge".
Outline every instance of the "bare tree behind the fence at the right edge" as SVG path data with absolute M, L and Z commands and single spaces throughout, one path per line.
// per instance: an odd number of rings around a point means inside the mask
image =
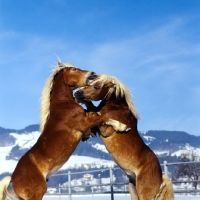
M 200 161 L 200 155 L 194 148 L 187 148 L 179 158 L 180 162 Z M 199 180 L 200 177 L 200 162 L 180 164 L 174 173 L 174 179 L 179 177 L 188 177 L 189 180 Z M 197 189 L 198 182 L 194 182 L 193 186 Z

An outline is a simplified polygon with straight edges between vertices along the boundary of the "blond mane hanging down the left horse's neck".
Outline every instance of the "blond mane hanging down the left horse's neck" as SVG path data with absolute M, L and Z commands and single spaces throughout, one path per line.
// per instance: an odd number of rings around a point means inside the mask
M 40 107 L 40 131 L 42 132 L 44 129 L 44 126 L 46 124 L 46 121 L 48 119 L 49 116 L 49 108 L 50 108 L 50 94 L 51 94 L 51 90 L 53 88 L 53 80 L 55 75 L 63 68 L 68 68 L 68 67 L 74 67 L 72 64 L 66 63 L 66 64 L 62 64 L 60 63 L 62 66 L 56 66 L 53 71 L 51 76 L 47 79 L 44 89 L 42 91 L 42 95 L 41 95 L 41 107 Z

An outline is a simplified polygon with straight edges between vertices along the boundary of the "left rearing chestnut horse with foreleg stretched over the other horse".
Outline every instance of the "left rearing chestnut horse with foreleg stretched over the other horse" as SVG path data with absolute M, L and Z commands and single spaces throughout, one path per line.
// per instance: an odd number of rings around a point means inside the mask
M 0 181 L 0 200 L 41 200 L 47 190 L 46 181 L 69 159 L 84 132 L 100 123 L 113 124 L 118 130 L 118 122 L 100 113 L 85 113 L 73 97 L 75 88 L 89 84 L 95 77 L 94 72 L 58 63 L 41 96 L 41 134 L 20 158 L 12 175 Z M 119 126 L 119 130 L 125 126 Z M 9 190 L 10 182 L 13 192 Z

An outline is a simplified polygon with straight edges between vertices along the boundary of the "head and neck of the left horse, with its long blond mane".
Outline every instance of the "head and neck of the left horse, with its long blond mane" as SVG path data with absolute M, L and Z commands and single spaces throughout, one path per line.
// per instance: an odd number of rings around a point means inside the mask
M 41 96 L 41 131 L 47 121 L 50 112 L 50 100 L 60 102 L 63 98 L 74 99 L 73 89 L 90 84 L 97 75 L 94 72 L 81 70 L 71 64 L 58 62 L 48 78 Z M 68 90 L 68 92 L 66 92 Z

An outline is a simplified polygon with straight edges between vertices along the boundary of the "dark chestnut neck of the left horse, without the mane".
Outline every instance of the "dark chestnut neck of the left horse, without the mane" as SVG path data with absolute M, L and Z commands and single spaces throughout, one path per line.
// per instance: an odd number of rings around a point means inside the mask
M 73 88 L 65 84 L 62 73 L 58 73 L 54 77 L 53 87 L 51 90 L 51 104 L 61 103 L 74 100 L 72 95 Z

